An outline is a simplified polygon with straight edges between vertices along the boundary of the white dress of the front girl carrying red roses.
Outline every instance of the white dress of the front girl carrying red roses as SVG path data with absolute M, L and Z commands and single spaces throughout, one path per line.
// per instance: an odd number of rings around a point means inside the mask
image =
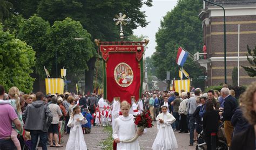
M 113 138 L 120 140 L 129 140 L 134 137 L 136 134 L 136 125 L 134 124 L 133 116 L 129 115 L 127 117 L 119 116 L 118 118 L 114 119 L 114 130 L 113 130 Z M 119 142 L 117 144 L 117 150 L 137 150 L 139 148 L 138 139 L 130 142 L 130 143 L 123 143 Z

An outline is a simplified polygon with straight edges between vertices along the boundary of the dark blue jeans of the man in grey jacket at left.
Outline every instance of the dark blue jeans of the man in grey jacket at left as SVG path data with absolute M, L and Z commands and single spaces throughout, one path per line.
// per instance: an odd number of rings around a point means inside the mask
M 41 141 L 43 150 L 47 150 L 47 146 L 46 146 L 46 142 L 48 140 L 47 132 L 43 132 L 41 130 L 31 130 L 30 135 L 31 135 L 31 142 L 32 142 L 31 150 L 36 149 L 38 136 L 40 137 L 40 141 Z

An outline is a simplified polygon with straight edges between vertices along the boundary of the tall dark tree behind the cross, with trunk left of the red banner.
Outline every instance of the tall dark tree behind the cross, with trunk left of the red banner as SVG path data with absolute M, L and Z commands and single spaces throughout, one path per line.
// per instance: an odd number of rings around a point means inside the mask
M 101 41 L 119 40 L 119 26 L 114 25 L 113 17 L 119 12 L 125 13 L 131 22 L 124 28 L 125 35 L 132 34 L 138 26 L 145 27 L 145 12 L 140 11 L 143 4 L 152 5 L 152 0 L 146 1 L 51 1 L 42 0 L 38 5 L 38 15 L 53 23 L 71 17 L 78 20 L 86 30 L 91 33 L 92 39 Z M 93 91 L 93 75 L 97 55 L 87 62 L 88 70 L 85 71 L 85 92 Z

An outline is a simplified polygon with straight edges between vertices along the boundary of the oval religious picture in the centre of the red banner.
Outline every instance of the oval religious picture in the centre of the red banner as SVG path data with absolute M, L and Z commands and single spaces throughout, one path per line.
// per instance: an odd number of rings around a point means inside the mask
M 127 63 L 119 63 L 114 68 L 114 80 L 121 87 L 128 87 L 133 81 L 132 68 Z

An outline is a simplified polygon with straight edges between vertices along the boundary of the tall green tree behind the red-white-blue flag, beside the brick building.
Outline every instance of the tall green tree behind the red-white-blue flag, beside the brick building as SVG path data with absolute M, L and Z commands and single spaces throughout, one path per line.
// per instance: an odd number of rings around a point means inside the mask
M 171 77 L 178 77 L 176 57 L 179 46 L 191 54 L 202 48 L 201 21 L 198 17 L 201 4 L 200 0 L 180 0 L 161 20 L 161 26 L 156 33 L 156 52 L 152 55 L 156 75 L 161 80 L 165 79 L 166 71 L 171 72 Z M 203 81 L 197 80 L 197 77 L 205 73 L 192 59 L 187 59 L 184 69 L 190 74 L 195 86 L 204 86 Z

